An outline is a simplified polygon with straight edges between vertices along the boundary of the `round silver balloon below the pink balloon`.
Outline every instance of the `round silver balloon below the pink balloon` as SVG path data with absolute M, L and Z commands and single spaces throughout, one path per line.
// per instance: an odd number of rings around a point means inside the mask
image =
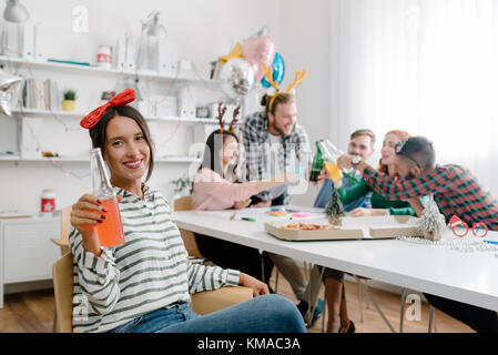
M 253 68 L 242 58 L 228 60 L 220 71 L 222 89 L 232 99 L 246 95 L 255 80 Z

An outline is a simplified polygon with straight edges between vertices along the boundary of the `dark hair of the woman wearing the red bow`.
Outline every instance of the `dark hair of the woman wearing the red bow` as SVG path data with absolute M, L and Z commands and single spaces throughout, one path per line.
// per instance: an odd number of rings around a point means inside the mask
M 151 151 L 150 152 L 151 156 L 149 159 L 149 166 L 148 166 L 148 176 L 145 179 L 145 181 L 149 181 L 149 179 L 152 175 L 152 171 L 154 170 L 154 149 L 153 149 L 154 143 L 151 138 L 151 130 L 149 129 L 149 124 L 146 123 L 143 115 L 136 109 L 129 105 L 110 108 L 102 116 L 102 119 L 99 121 L 99 123 L 96 123 L 89 130 L 90 138 L 92 139 L 92 145 L 93 148 L 100 148 L 100 150 L 102 151 L 102 156 L 104 156 L 105 138 L 108 134 L 108 123 L 116 114 L 132 119 L 133 121 L 136 122 L 136 124 L 143 132 L 143 138 L 145 139 L 145 142 L 149 144 L 149 150 Z

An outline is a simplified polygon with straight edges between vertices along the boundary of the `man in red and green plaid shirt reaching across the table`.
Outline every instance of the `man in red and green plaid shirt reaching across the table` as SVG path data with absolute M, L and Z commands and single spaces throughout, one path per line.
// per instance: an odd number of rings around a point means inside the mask
M 337 163 L 341 169 L 353 166 L 363 172 L 368 185 L 388 200 L 434 194 L 434 201 L 447 222 L 457 215 L 469 226 L 482 222 L 490 230 L 498 231 L 498 201 L 468 169 L 455 164 L 435 166 L 433 143 L 423 136 L 413 136 L 396 145 L 395 165 L 400 180 L 377 172 L 360 159 L 349 155 L 341 156 Z M 494 311 L 424 295 L 431 305 L 477 332 L 498 332 L 498 316 Z

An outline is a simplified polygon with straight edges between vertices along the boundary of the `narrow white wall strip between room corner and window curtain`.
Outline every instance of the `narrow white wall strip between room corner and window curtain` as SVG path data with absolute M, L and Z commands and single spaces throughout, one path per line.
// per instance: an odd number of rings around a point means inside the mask
M 307 69 L 308 78 L 297 87 L 298 122 L 315 141 L 329 139 L 331 115 L 331 2 L 328 0 L 281 0 L 281 53 L 286 63 L 284 88 L 297 70 Z M 313 205 L 319 187 L 293 197 L 294 204 Z

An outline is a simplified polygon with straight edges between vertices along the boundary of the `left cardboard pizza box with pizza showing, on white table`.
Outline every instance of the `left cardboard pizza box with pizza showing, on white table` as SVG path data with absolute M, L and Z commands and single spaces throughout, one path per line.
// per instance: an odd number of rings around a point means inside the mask
M 299 221 L 271 221 L 265 223 L 265 231 L 273 236 L 285 241 L 339 241 L 339 240 L 360 240 L 364 237 L 360 229 L 343 229 L 337 230 L 317 230 L 317 231 L 299 231 L 299 230 L 284 230 L 281 225 L 289 223 L 299 223 Z M 328 224 L 328 221 L 323 220 L 306 220 L 306 224 Z

